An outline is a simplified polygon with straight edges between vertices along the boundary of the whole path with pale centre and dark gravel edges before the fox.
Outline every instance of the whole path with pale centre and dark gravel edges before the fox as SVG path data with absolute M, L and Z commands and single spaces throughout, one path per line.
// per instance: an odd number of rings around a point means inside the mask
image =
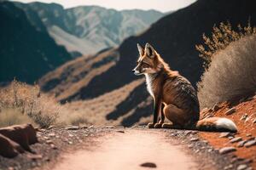
M 69 127 L 38 132 L 36 154 L 0 156 L 0 169 L 236 169 L 197 132 L 146 127 Z M 124 169 L 125 170 L 125 169 Z

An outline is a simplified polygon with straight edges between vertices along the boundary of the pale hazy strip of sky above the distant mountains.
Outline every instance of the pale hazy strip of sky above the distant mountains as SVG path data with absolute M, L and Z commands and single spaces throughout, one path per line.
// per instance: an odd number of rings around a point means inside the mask
M 35 0 L 15 0 L 22 3 L 30 3 Z M 39 0 L 43 3 L 61 3 L 65 8 L 76 7 L 79 5 L 98 5 L 105 8 L 115 9 L 151 9 L 160 10 L 162 12 L 168 12 L 176 10 L 177 8 L 183 8 L 190 3 L 194 3 L 195 0 Z

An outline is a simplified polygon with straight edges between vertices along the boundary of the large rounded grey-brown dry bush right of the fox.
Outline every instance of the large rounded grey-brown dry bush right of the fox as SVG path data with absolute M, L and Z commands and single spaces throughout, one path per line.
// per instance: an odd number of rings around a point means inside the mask
M 256 35 L 245 36 L 212 55 L 198 83 L 201 109 L 256 91 Z

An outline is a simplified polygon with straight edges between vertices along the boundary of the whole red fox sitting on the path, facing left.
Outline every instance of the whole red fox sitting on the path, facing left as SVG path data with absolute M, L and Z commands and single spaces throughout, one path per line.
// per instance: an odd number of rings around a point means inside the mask
M 145 75 L 148 93 L 154 99 L 154 120 L 148 127 L 237 131 L 236 124 L 227 118 L 199 120 L 199 101 L 191 83 L 177 71 L 172 71 L 149 43 L 145 48 L 137 44 L 137 48 L 139 59 L 132 71 L 137 76 Z M 165 118 L 172 123 L 164 123 Z

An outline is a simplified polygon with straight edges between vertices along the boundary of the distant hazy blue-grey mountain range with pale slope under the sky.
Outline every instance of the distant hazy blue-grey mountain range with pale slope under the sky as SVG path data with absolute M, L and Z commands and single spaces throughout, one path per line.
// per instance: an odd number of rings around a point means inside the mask
M 51 37 L 68 51 L 96 54 L 118 46 L 126 37 L 144 31 L 164 14 L 155 10 L 121 10 L 98 6 L 63 8 L 56 3 L 16 3 L 38 26 L 32 11 L 38 13 Z M 38 26 L 41 27 L 41 26 Z

